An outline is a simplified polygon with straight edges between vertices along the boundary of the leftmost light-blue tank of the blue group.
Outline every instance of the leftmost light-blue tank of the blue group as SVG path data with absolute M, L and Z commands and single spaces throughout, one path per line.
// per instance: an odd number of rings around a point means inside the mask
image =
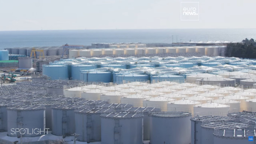
M 69 78 L 67 65 L 43 65 L 43 74 L 52 80 Z

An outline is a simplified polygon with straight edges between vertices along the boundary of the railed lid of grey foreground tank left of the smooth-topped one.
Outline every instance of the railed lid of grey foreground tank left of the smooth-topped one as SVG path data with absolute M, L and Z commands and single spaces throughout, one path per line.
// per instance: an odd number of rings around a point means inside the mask
M 120 112 L 120 113 L 110 113 L 110 114 L 101 114 L 101 117 L 105 118 L 118 118 L 118 119 L 125 119 L 125 118 L 142 118 L 143 114 L 132 113 L 132 112 Z

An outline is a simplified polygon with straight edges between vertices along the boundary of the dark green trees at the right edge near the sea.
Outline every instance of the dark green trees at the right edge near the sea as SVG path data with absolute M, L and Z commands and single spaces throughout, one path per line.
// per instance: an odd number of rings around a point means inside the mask
M 225 52 L 227 57 L 256 58 L 256 42 L 254 39 L 244 39 L 240 43 L 229 43 Z

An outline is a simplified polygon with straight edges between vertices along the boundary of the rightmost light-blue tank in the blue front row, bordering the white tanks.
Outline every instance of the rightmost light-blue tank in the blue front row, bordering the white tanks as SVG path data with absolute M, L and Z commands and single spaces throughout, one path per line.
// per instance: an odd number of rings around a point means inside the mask
M 151 82 L 162 82 L 162 81 L 179 81 L 184 82 L 185 77 L 180 75 L 173 75 L 173 74 L 163 74 L 157 76 L 150 76 Z

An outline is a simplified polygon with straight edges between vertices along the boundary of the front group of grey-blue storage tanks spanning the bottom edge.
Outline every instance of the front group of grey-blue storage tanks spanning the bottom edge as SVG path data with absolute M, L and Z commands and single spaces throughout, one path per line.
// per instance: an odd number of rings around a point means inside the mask
M 2 102 L 1 129 L 7 129 L 8 136 L 20 136 L 11 129 L 33 130 L 37 127 L 42 131 L 40 134 L 38 131 L 23 134 L 25 137 L 34 137 L 44 135 L 46 124 L 49 126 L 50 122 L 52 126 L 47 128 L 53 135 L 70 136 L 76 133 L 79 134 L 78 141 L 101 141 L 104 144 L 142 144 L 143 140 L 149 140 L 151 144 L 241 144 L 248 141 L 248 136 L 256 136 L 256 115 L 253 112 L 230 113 L 229 117 L 192 117 L 188 112 L 160 112 L 157 108 L 136 108 L 128 104 L 108 104 L 104 101 L 75 99 L 74 102 L 63 98 L 52 100 L 56 101 L 41 101 L 34 105 Z M 71 104 L 59 103 L 70 100 Z

